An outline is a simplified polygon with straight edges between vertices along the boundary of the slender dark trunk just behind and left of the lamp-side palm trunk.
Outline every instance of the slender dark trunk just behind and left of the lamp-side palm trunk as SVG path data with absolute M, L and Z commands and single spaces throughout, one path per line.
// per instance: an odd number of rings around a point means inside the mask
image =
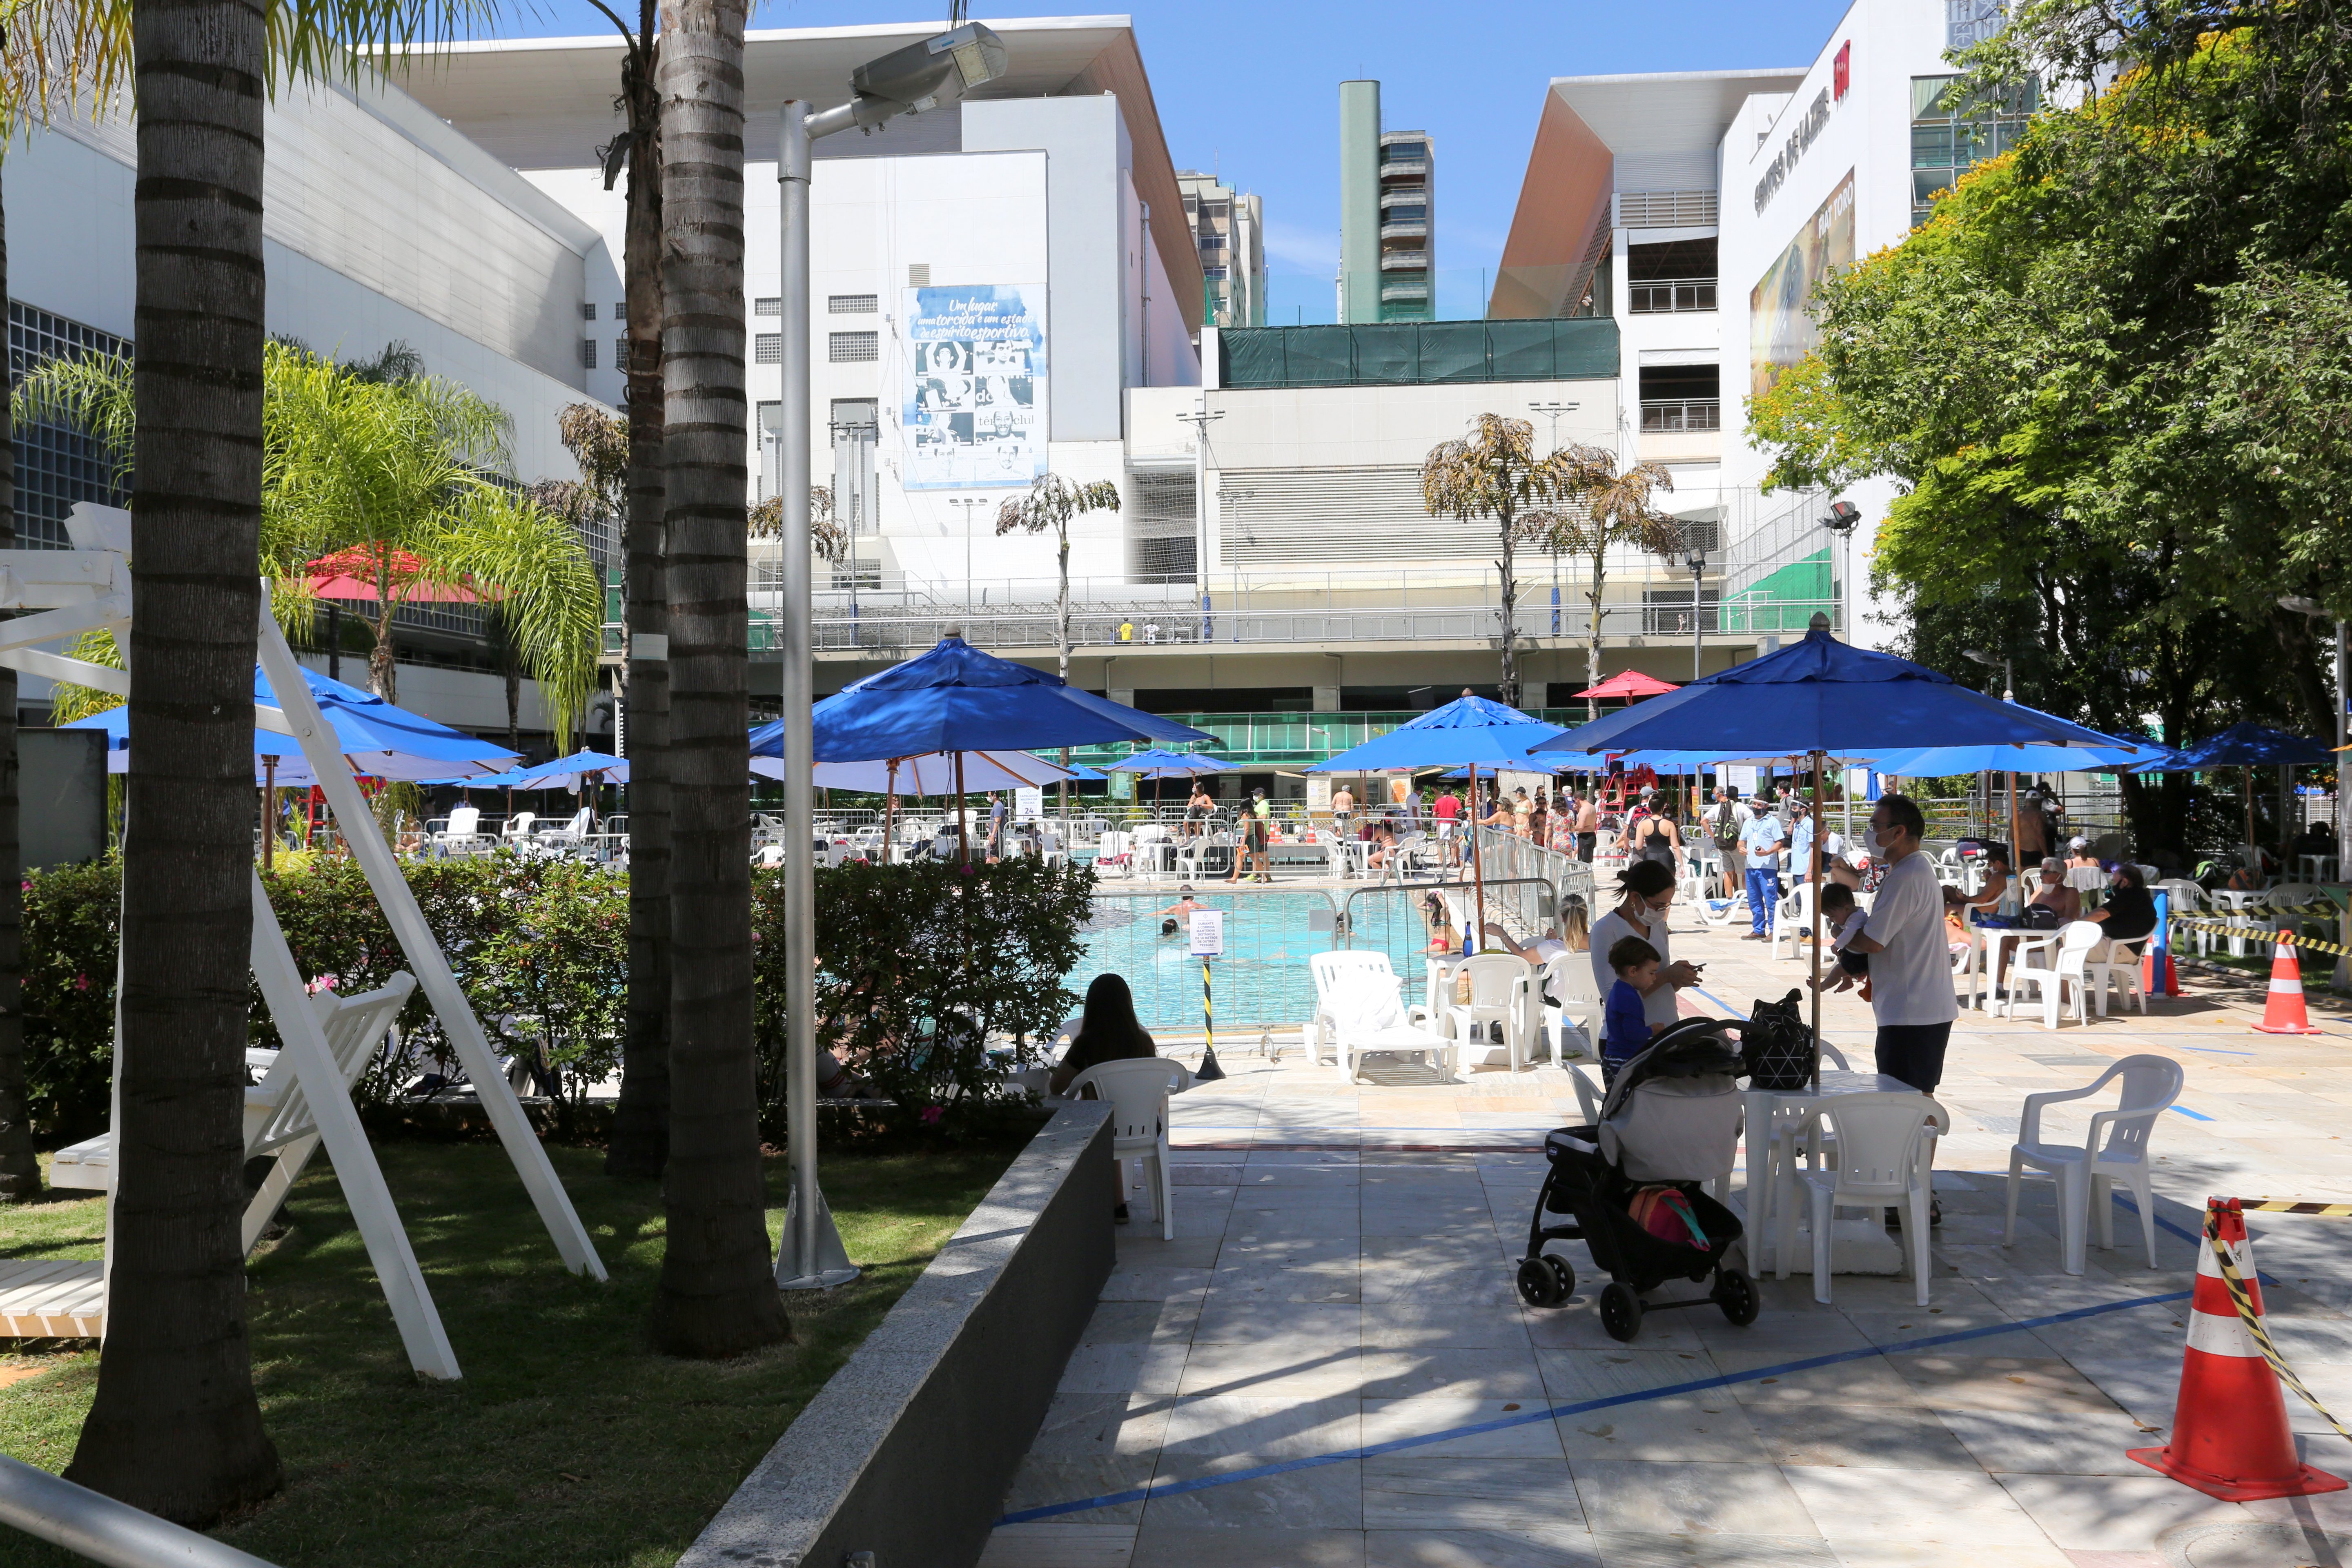
M 647 7 L 640 40 L 652 45 Z M 635 63 L 635 56 L 633 56 Z M 628 1032 L 607 1175 L 656 1178 L 670 1161 L 670 663 L 661 494 L 661 99 L 649 63 L 623 75 L 628 153 Z

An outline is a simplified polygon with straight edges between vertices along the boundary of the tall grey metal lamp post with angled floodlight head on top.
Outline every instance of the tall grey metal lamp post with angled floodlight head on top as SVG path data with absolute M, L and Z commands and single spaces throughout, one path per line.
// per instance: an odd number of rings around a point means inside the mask
M 920 113 L 964 96 L 1004 75 L 1004 42 L 971 21 L 936 38 L 891 49 L 849 73 L 851 99 L 809 113 L 790 99 L 776 146 L 776 186 L 783 207 L 783 440 L 776 477 L 783 489 L 783 929 L 790 1009 L 786 1013 L 786 1140 L 793 1152 L 793 1199 L 776 1248 L 776 1284 L 786 1291 L 826 1291 L 856 1279 L 842 1237 L 816 1187 L 816 799 L 811 771 L 816 741 L 809 708 L 816 696 L 811 625 L 816 621 L 809 564 L 809 143 L 849 127 L 873 129 L 894 115 Z

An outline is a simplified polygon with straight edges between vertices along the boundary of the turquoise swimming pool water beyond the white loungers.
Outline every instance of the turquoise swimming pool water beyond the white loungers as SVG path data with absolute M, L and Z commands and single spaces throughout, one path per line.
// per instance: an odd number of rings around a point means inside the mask
M 1301 1027 L 1315 1013 L 1308 959 L 1317 952 L 1385 952 L 1399 976 L 1418 980 L 1430 940 L 1418 910 L 1423 891 L 1364 889 L 1345 896 L 1345 907 L 1329 893 L 1200 893 L 1204 910 L 1225 912 L 1225 957 L 1209 961 L 1216 1032 L 1256 1037 L 1263 1027 Z M 1096 893 L 1094 919 L 1082 933 L 1087 954 L 1070 971 L 1070 990 L 1084 997 L 1094 976 L 1117 973 L 1136 994 L 1143 1027 L 1200 1032 L 1200 959 L 1181 926 L 1174 936 L 1160 933 L 1169 919 L 1160 910 L 1174 903 L 1169 889 Z M 1327 917 L 1319 931 L 1310 924 L 1315 912 Z M 1348 917 L 1345 940 L 1329 929 L 1336 914 Z

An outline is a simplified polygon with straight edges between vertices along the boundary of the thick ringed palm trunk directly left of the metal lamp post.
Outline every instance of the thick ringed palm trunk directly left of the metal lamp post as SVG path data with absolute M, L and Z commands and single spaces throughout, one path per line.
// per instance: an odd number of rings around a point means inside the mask
M 670 545 L 670 1166 L 652 1338 L 677 1356 L 736 1356 L 793 1333 L 767 1246 L 750 1039 L 743 0 L 670 0 L 656 80 Z

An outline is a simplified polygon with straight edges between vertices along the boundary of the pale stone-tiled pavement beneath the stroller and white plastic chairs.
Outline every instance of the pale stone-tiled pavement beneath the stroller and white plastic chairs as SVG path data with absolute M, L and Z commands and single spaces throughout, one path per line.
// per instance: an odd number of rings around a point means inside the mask
M 1677 957 L 1710 959 L 1705 990 L 1736 1011 L 1799 976 L 1729 933 L 1677 931 Z M 2199 1552 L 2178 1561 L 2333 1561 L 2317 1537 L 2230 1556 L 2194 1535 L 2296 1519 L 2352 1535 L 2352 1493 L 2223 1505 L 2124 1458 L 2164 1441 L 2185 1302 L 2039 1324 L 2185 1291 L 2180 1232 L 2206 1192 L 2352 1199 L 2352 1023 L 2256 1034 L 2237 992 L 2187 985 L 2145 1020 L 2056 1034 L 1962 1018 L 1938 1095 L 1959 1131 L 1938 1154 L 1933 1305 L 1915 1307 L 1907 1279 L 1839 1276 L 1820 1307 L 1790 1274 L 1764 1284 L 1750 1328 L 1712 1307 L 1661 1312 L 1630 1345 L 1602 1333 L 1576 1244 L 1576 1302 L 1538 1312 L 1512 1291 L 1543 1173 L 1531 1150 L 1573 1119 L 1559 1070 L 1454 1086 L 1397 1070 L 1355 1088 L 1296 1051 L 1275 1067 L 1228 1058 L 1232 1077 L 1176 1103 L 1176 1239 L 1141 1211 L 1120 1232 L 1120 1267 L 1007 1497 L 1061 1512 L 1000 1526 L 983 1563 L 2157 1568 L 2166 1530 L 2173 1552 Z M 1825 1034 L 1867 1058 L 1856 1001 L 1830 1001 Z M 2119 1213 L 2122 1246 L 2063 1274 L 2046 1185 L 2002 1248 L 2002 1180 L 1971 1173 L 2006 1168 L 2023 1095 L 2133 1051 L 2183 1060 L 2194 1112 L 2166 1114 L 2154 1145 L 2176 1227 L 2159 1267 Z M 2281 1349 L 2352 1408 L 2352 1220 L 2265 1215 L 2256 1237 Z M 2020 1328 L 1912 1345 L 2002 1324 Z M 1860 1354 L 1541 1415 L 1837 1352 Z M 2312 1462 L 2352 1474 L 2352 1443 L 2317 1413 L 2291 1401 L 2291 1425 Z

